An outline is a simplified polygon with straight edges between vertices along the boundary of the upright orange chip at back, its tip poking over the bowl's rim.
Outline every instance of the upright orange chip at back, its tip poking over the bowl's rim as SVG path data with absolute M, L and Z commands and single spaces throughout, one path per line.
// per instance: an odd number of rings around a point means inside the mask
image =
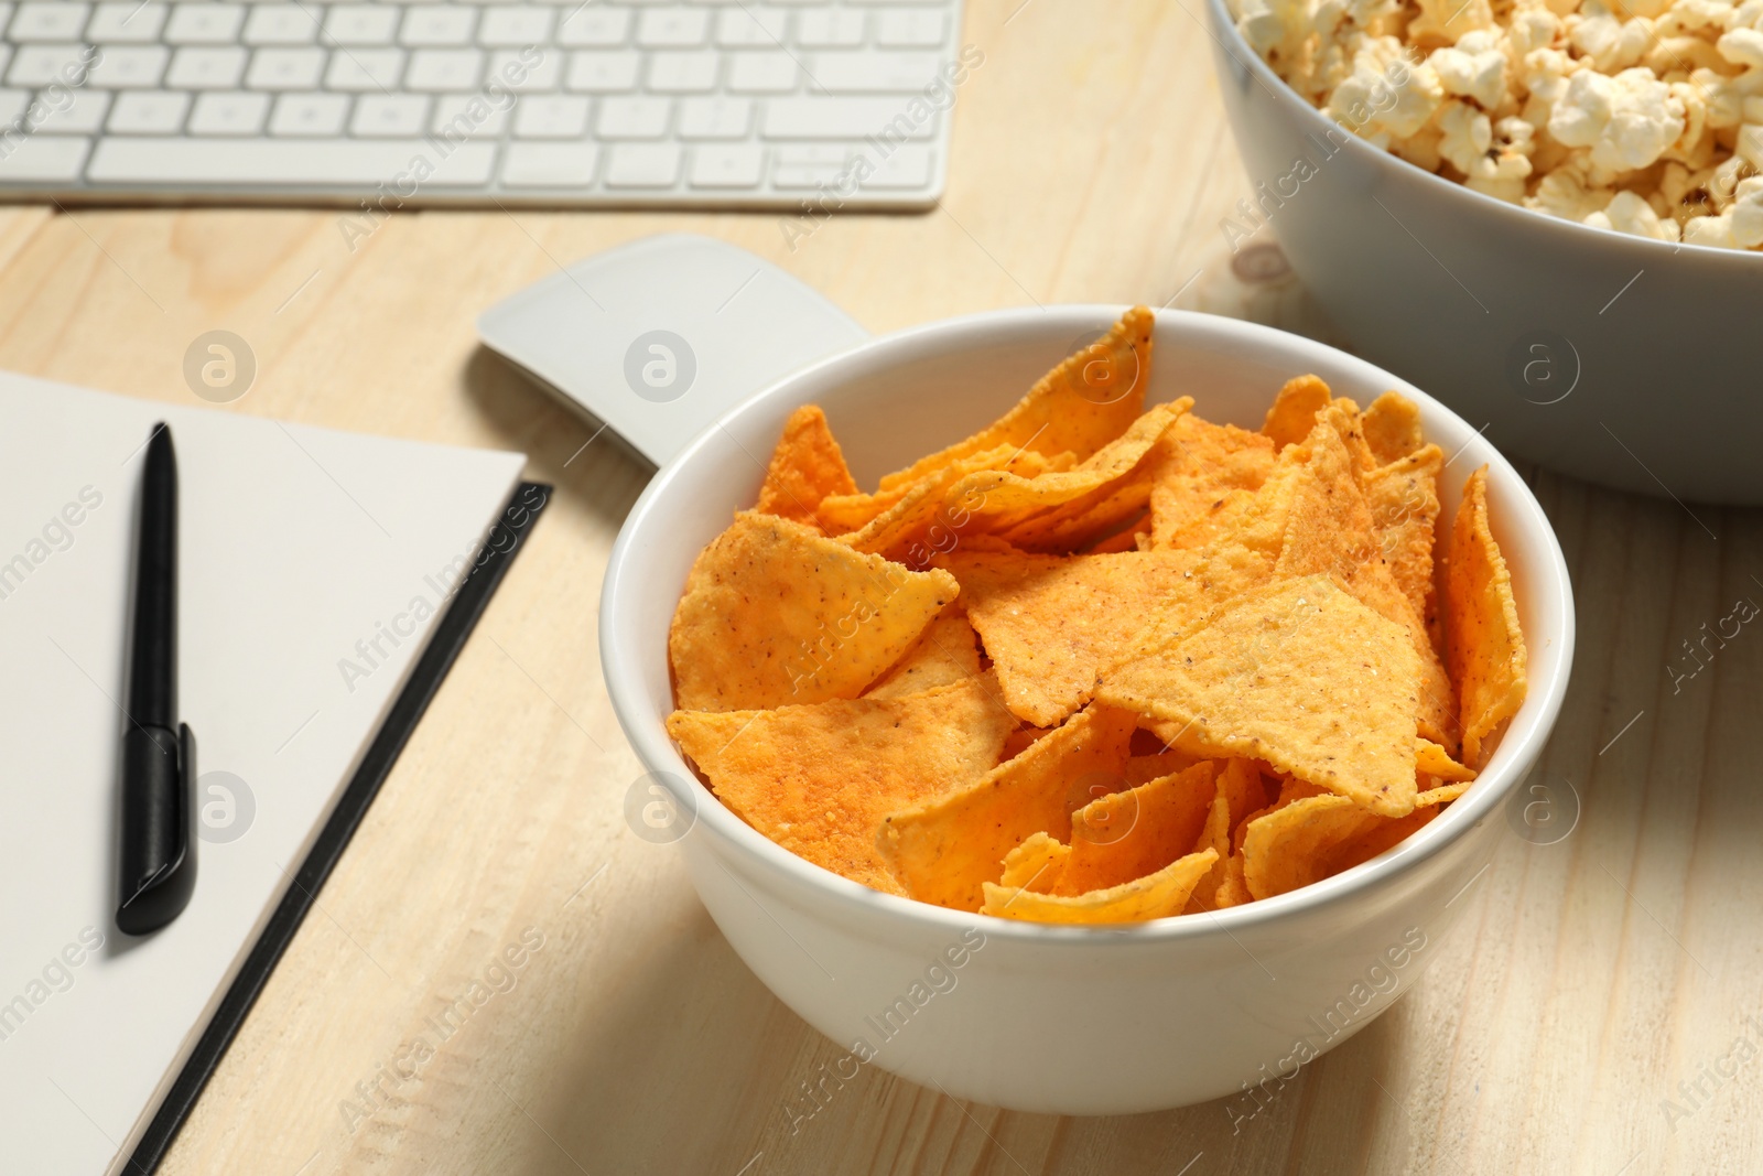
M 947 450 L 922 457 L 882 480 L 882 490 L 922 481 L 975 453 L 1008 446 L 1082 460 L 1118 437 L 1139 416 L 1151 383 L 1151 331 L 1157 317 L 1134 307 L 1107 335 L 1040 377 L 1015 407 Z

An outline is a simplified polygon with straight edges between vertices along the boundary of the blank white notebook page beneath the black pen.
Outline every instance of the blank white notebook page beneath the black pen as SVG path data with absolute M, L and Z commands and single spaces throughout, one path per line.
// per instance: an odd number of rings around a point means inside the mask
M 132 940 L 113 922 L 118 703 L 141 453 L 160 420 L 201 837 L 189 908 Z M 0 372 L 5 1171 L 122 1171 L 524 462 Z

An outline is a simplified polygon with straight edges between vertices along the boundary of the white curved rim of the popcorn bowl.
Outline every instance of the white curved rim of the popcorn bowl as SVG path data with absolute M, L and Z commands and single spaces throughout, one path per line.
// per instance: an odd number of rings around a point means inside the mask
M 1315 130 L 1343 127 L 1333 118 L 1324 115 L 1319 108 L 1312 106 L 1292 90 L 1291 83 L 1280 78 L 1266 58 L 1255 53 L 1255 48 L 1248 44 L 1243 37 L 1243 30 L 1236 26 L 1236 19 L 1231 16 L 1227 0 L 1206 0 L 1206 12 L 1211 19 L 1211 28 L 1208 30 L 1216 42 L 1216 46 L 1231 56 L 1239 69 L 1248 71 L 1257 83 L 1269 93 L 1276 95 L 1275 100 L 1282 102 L 1287 109 L 1296 109 L 1298 116 L 1310 122 Z M 1190 12 L 1192 16 L 1192 12 Z M 1199 19 L 1199 18 L 1195 18 Z M 1227 37 L 1232 44 L 1225 44 L 1222 37 Z M 1241 53 L 1238 53 L 1241 51 Z M 1246 60 L 1245 60 L 1246 56 Z M 1224 79 L 1220 79 L 1224 81 Z M 1236 127 L 1232 125 L 1232 134 Z M 1731 264 L 1731 266 L 1754 266 L 1763 264 L 1763 250 L 1756 249 L 1722 249 L 1719 245 L 1694 245 L 1691 242 L 1659 242 L 1650 236 L 1636 236 L 1633 233 L 1618 233 L 1617 229 L 1599 229 L 1588 224 L 1580 224 L 1578 220 L 1567 220 L 1564 217 L 1555 217 L 1546 212 L 1537 212 L 1534 208 L 1525 208 L 1523 205 L 1513 205 L 1509 201 L 1488 196 L 1486 192 L 1477 192 L 1472 187 L 1458 183 L 1456 180 L 1447 180 L 1437 173 L 1417 167 L 1409 160 L 1402 159 L 1395 152 L 1387 152 L 1366 143 L 1359 134 L 1347 130 L 1347 143 L 1340 150 L 1356 152 L 1358 159 L 1370 162 L 1375 167 L 1384 167 L 1391 175 L 1400 175 L 1403 178 L 1417 178 L 1425 185 L 1432 185 L 1437 192 L 1447 192 L 1444 199 L 1469 201 L 1470 208 L 1481 208 L 1493 217 L 1521 217 L 1525 224 L 1532 226 L 1553 226 L 1537 227 L 1541 233 L 1562 231 L 1571 236 L 1590 243 L 1596 249 L 1631 249 L 1634 250 L 1645 264 L 1661 263 L 1659 250 L 1666 250 L 1670 256 L 1692 250 L 1692 257 L 1703 257 L 1710 264 Z M 1400 169 L 1400 173 L 1396 171 Z M 1514 222 L 1516 224 L 1516 222 Z M 1596 234 L 1596 236 L 1588 236 Z M 1613 243 L 1615 242 L 1615 243 Z

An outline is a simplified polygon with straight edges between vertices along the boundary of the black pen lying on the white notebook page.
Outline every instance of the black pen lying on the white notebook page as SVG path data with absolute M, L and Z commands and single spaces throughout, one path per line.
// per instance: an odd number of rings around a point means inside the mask
M 164 423 L 153 425 L 141 471 L 130 640 L 116 929 L 146 934 L 176 919 L 196 889 L 196 735 L 176 719 L 178 458 Z

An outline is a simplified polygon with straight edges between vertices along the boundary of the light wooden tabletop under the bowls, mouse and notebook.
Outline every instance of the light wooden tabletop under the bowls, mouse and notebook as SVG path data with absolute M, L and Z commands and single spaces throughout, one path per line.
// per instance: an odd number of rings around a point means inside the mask
M 1172 296 L 1303 326 L 1294 289 L 1229 268 L 1216 226 L 1250 189 L 1194 12 L 970 0 L 986 60 L 943 206 L 839 217 L 795 250 L 758 213 L 400 213 L 353 249 L 337 212 L 0 213 L 7 368 L 187 404 L 185 347 L 226 328 L 259 365 L 234 411 L 517 448 L 557 487 L 167 1174 L 1763 1171 L 1763 636 L 1666 672 L 1705 621 L 1763 601 L 1758 511 L 1536 476 L 1580 608 L 1537 779 L 1580 797 L 1578 827 L 1509 837 L 1416 989 L 1239 1132 L 1224 1104 L 1060 1120 L 869 1070 L 793 1132 L 785 1107 L 839 1049 L 626 827 L 640 769 L 594 624 L 649 471 L 578 453 L 589 428 L 480 351 L 474 316 L 559 263 L 695 229 L 874 331 Z M 543 945 L 513 987 L 439 1042 L 428 1017 L 529 927 Z

